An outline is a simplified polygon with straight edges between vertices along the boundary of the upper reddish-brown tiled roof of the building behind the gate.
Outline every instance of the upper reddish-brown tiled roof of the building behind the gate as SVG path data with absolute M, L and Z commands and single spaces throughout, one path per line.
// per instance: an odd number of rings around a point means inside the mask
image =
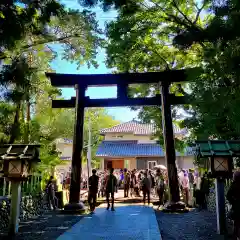
M 175 124 L 173 125 L 173 130 L 175 134 L 186 134 L 186 129 L 180 129 Z M 153 135 L 156 131 L 154 124 L 144 124 L 138 121 L 130 121 L 121 123 L 119 125 L 113 126 L 111 128 L 104 128 L 101 130 L 101 134 L 106 133 L 133 133 L 134 135 Z

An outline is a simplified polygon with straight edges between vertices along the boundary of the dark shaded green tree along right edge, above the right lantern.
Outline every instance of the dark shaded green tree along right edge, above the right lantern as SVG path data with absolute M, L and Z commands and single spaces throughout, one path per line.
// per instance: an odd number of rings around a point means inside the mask
M 194 96 L 183 125 L 192 139 L 239 139 L 239 1 L 212 2 L 213 17 L 198 33 L 188 29 L 174 43 L 186 49 L 203 46 L 201 74 L 190 85 Z

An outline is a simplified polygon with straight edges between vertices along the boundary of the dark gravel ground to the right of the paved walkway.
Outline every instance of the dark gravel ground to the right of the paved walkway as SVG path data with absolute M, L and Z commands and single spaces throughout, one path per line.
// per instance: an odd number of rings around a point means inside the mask
M 217 220 L 215 214 L 208 211 L 192 210 L 181 214 L 156 211 L 156 217 L 163 240 L 224 239 L 216 232 Z

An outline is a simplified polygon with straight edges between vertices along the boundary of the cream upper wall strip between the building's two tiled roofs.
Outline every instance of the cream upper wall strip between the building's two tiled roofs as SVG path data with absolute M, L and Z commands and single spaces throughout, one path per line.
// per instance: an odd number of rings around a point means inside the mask
M 134 134 L 121 134 L 121 133 L 107 133 L 105 135 L 106 141 L 132 141 L 138 140 L 139 143 L 154 143 L 151 136 L 139 136 Z

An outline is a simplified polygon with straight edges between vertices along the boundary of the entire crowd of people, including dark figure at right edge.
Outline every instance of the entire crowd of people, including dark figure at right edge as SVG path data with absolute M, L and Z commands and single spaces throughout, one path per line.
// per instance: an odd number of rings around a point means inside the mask
M 187 206 L 207 208 L 207 199 L 211 189 L 211 180 L 207 172 L 201 173 L 193 169 L 178 171 L 179 189 Z M 142 197 L 143 203 L 150 204 L 151 196 L 158 197 L 159 206 L 168 200 L 168 178 L 166 170 L 127 170 L 110 169 L 109 171 L 92 170 L 92 176 L 84 181 L 84 187 L 88 183 L 88 202 L 93 212 L 96 206 L 97 197 L 106 197 L 107 210 L 111 206 L 114 211 L 114 194 L 119 188 L 124 190 L 124 197 Z M 65 182 L 70 184 L 70 182 Z M 56 181 L 51 177 L 46 186 L 49 207 L 56 209 L 57 201 L 55 196 Z M 111 204 L 110 204 L 111 197 Z M 235 236 L 240 236 L 240 172 L 236 171 L 233 182 L 227 193 L 227 200 L 232 206 L 231 218 L 234 221 Z

